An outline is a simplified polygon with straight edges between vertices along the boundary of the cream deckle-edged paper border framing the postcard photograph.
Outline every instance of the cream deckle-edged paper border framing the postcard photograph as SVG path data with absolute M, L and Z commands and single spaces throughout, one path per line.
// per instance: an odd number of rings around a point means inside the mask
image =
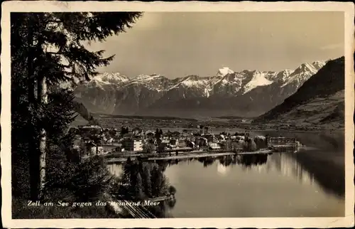
M 351 2 L 161 2 L 6 1 L 1 7 L 1 208 L 5 228 L 334 228 L 354 226 L 354 4 Z M 10 12 L 49 11 L 344 11 L 345 28 L 345 168 L 344 218 L 171 218 L 171 219 L 11 219 L 11 79 Z

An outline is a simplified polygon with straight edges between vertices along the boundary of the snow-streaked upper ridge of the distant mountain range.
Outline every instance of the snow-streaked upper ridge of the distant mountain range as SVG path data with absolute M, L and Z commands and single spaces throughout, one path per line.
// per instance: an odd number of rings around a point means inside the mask
M 302 82 L 317 73 L 325 65 L 324 62 L 304 63 L 295 70 L 283 70 L 280 72 L 266 72 L 258 70 L 243 70 L 240 73 L 230 68 L 220 68 L 213 77 L 200 77 L 199 75 L 188 75 L 185 78 L 170 80 L 163 75 L 137 75 L 133 78 L 126 77 L 120 73 L 102 73 L 85 83 L 84 85 L 94 87 L 113 85 L 117 87 L 128 87 L 132 84 L 142 84 L 151 87 L 152 90 L 167 91 L 176 87 L 195 87 L 206 91 L 206 95 L 213 94 L 215 87 L 236 87 L 235 92 L 243 91 L 243 94 L 250 92 L 256 87 L 271 85 L 274 82 L 282 82 L 281 87 L 295 83 L 299 87 Z M 168 82 L 168 83 L 166 83 Z

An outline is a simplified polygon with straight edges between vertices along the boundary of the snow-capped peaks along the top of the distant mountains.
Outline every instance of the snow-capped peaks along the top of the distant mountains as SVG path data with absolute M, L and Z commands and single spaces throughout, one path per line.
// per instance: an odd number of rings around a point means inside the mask
M 296 70 L 259 71 L 243 70 L 234 72 L 228 67 L 220 68 L 217 75 L 205 77 L 199 75 L 187 75 L 183 78 L 169 79 L 163 75 L 153 73 L 151 75 L 136 75 L 126 77 L 120 73 L 102 73 L 95 76 L 89 83 L 84 83 L 85 87 L 99 87 L 101 90 L 119 90 L 120 88 L 144 87 L 148 90 L 161 92 L 179 93 L 191 92 L 193 96 L 214 97 L 238 96 L 246 94 L 256 87 L 264 87 L 274 82 L 275 87 L 300 87 L 305 80 L 317 73 L 317 70 L 324 66 L 324 62 L 315 61 L 303 63 Z M 106 89 L 108 88 L 108 89 Z M 287 87 L 289 88 L 289 87 Z M 288 89 L 287 89 L 288 90 Z M 180 94 L 179 94 L 180 95 Z

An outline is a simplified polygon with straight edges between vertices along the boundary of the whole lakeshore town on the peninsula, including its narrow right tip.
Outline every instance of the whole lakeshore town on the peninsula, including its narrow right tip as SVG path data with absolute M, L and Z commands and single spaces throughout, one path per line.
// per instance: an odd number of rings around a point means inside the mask
M 200 125 L 197 125 L 197 130 L 184 129 L 182 132 L 163 132 L 158 128 L 155 131 L 138 127 L 102 128 L 97 125 L 72 127 L 69 131 L 75 136 L 74 148 L 81 158 L 101 155 L 113 160 L 120 156 L 143 156 L 146 159 L 165 156 L 171 159 L 179 155 L 186 158 L 189 155 L 220 156 L 220 153 L 265 154 L 297 151 L 302 147 L 292 137 L 252 137 L 249 132 L 213 134 L 209 127 Z

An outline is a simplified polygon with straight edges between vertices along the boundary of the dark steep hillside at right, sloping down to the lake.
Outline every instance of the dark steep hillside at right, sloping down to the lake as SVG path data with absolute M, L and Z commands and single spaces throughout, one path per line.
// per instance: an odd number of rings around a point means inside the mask
M 253 122 L 344 127 L 344 63 L 344 57 L 329 60 L 295 94 Z

